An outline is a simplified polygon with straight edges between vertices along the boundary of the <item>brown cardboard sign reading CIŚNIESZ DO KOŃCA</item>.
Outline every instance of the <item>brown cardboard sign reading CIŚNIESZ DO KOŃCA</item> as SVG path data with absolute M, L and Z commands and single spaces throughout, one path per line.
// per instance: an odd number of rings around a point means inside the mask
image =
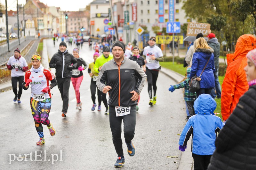
M 210 27 L 211 24 L 188 22 L 187 36 L 196 36 L 198 33 L 202 33 L 204 37 L 207 37 Z

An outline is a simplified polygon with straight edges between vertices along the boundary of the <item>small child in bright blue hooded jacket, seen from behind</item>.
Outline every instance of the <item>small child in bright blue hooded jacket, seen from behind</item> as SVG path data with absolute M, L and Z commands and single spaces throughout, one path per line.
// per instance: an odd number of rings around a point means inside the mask
M 192 138 L 192 157 L 194 170 L 205 170 L 215 151 L 217 132 L 223 127 L 220 117 L 213 111 L 217 107 L 216 101 L 209 94 L 201 94 L 194 102 L 195 114 L 188 119 L 180 135 L 179 150 L 185 151 L 189 137 Z

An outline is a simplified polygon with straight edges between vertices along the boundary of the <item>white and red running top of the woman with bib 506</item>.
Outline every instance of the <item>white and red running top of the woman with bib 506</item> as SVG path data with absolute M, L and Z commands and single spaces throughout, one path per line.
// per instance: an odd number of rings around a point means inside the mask
M 30 88 L 31 88 L 31 97 L 34 94 L 43 94 L 42 90 L 49 85 L 49 81 L 54 79 L 54 75 L 51 70 L 43 68 L 38 72 L 34 72 L 32 69 L 28 70 L 25 74 L 24 82 L 28 79 L 31 79 Z M 51 92 L 45 93 L 45 99 L 51 98 Z

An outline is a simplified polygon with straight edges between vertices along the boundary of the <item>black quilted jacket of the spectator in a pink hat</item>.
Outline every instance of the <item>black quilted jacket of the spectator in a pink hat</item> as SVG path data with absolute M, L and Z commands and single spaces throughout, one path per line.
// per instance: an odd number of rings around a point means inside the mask
M 256 169 L 256 85 L 239 99 L 215 145 L 208 170 Z

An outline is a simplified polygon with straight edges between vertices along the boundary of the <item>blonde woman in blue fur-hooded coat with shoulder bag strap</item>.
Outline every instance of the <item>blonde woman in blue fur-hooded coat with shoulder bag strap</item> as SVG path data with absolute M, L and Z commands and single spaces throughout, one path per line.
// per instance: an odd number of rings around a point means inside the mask
M 204 69 L 205 65 L 206 67 Z M 203 69 L 204 72 L 202 73 Z M 204 38 L 198 38 L 196 39 L 196 48 L 195 53 L 193 54 L 190 71 L 190 78 L 194 76 L 199 77 L 202 73 L 200 78 L 197 78 L 197 80 L 200 81 L 200 89 L 196 92 L 197 97 L 203 93 L 210 94 L 212 88 L 215 87 L 213 72 L 215 72 L 213 49 L 208 46 Z

